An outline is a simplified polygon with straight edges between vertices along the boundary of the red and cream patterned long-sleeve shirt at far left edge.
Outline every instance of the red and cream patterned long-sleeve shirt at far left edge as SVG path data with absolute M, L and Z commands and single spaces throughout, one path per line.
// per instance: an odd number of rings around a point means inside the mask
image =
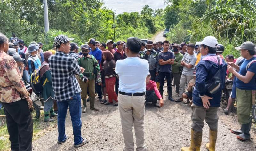
M 27 98 L 29 93 L 21 80 L 19 67 L 15 60 L 0 50 L 0 101 L 12 103 Z

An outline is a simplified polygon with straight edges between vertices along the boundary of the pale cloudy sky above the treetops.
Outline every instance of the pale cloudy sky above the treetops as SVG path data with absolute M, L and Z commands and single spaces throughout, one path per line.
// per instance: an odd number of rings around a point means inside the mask
M 141 12 L 145 5 L 153 10 L 164 8 L 164 0 L 103 0 L 104 5 L 112 9 L 116 15 L 123 12 Z

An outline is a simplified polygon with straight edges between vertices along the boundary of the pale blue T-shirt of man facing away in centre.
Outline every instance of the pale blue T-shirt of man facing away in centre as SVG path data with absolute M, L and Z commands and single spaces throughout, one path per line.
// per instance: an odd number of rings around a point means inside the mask
M 118 90 L 125 93 L 142 93 L 146 91 L 146 77 L 149 64 L 145 59 L 127 57 L 116 61 L 116 74 L 119 76 Z

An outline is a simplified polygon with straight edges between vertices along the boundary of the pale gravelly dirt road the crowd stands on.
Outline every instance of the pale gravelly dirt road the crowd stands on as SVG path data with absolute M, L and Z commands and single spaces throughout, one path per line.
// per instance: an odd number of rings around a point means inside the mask
M 163 33 L 160 33 L 156 38 L 159 37 L 159 39 L 161 38 L 160 40 L 164 40 L 162 35 Z M 172 87 L 172 89 L 174 90 L 174 87 Z M 166 86 L 164 90 L 166 92 Z M 173 98 L 178 98 L 175 92 L 173 92 Z M 63 144 L 57 144 L 58 131 L 55 129 L 51 133 L 46 133 L 46 135 L 34 141 L 33 150 L 122 151 L 124 139 L 118 107 L 102 105 L 98 100 L 96 101 L 96 105 L 100 107 L 99 112 L 88 110 L 87 113 L 82 113 L 81 131 L 82 136 L 90 140 L 88 144 L 79 148 L 73 147 L 74 137 L 68 113 L 66 119 L 66 134 L 70 136 L 70 139 Z M 144 128 L 145 145 L 148 146 L 149 151 L 180 151 L 181 147 L 189 146 L 191 129 L 190 116 L 191 109 L 189 105 L 185 105 L 181 102 L 171 102 L 167 100 L 165 96 L 164 107 L 162 108 L 152 107 L 151 104 L 147 104 Z M 256 150 L 255 131 L 251 131 L 252 140 L 242 142 L 236 139 L 234 134 L 230 133 L 231 128 L 239 128 L 236 116 L 224 115 L 220 108 L 216 151 Z M 205 123 L 201 145 L 202 151 L 206 150 L 205 145 L 208 140 L 209 127 Z

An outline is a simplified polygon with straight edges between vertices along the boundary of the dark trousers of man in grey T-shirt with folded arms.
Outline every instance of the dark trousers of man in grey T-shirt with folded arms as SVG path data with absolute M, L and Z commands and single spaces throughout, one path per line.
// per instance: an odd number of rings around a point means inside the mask
M 163 97 L 163 92 L 164 92 L 164 78 L 166 77 L 167 81 L 167 90 L 168 92 L 172 93 L 172 73 L 171 72 L 160 72 L 159 73 L 159 92 L 161 96 Z

